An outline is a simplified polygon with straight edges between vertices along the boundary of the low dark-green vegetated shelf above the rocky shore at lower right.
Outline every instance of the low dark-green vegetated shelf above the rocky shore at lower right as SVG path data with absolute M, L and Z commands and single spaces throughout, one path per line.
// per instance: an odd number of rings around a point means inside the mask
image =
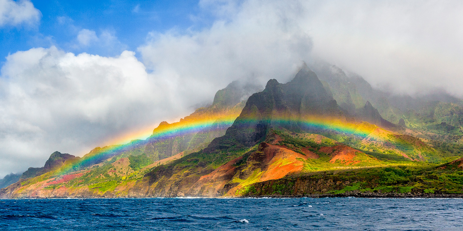
M 293 195 L 295 182 L 320 184 L 320 188 L 304 188 L 304 194 L 341 194 L 353 190 L 379 193 L 463 193 L 463 169 L 457 164 L 427 164 L 318 171 L 310 175 L 294 175 L 258 182 L 244 187 L 237 195 Z M 308 182 L 308 183 L 307 183 Z M 271 185 L 271 187 L 269 186 Z M 270 188 L 269 188 L 270 187 Z M 252 189 L 252 190 L 251 190 Z M 299 193 L 302 193 L 299 188 Z

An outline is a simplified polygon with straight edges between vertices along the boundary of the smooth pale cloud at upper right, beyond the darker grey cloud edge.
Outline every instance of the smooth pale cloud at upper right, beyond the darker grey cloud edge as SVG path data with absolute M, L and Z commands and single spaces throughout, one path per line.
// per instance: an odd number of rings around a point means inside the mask
M 313 55 L 399 93 L 463 96 L 462 1 L 305 1 Z

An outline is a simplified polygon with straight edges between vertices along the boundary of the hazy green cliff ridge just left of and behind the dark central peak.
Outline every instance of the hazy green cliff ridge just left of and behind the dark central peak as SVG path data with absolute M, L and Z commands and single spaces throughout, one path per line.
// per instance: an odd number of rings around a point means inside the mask
M 212 105 L 196 109 L 194 113 L 181 119 L 180 122 L 172 124 L 161 122 L 154 129 L 153 135 L 147 139 L 144 153 L 156 161 L 179 152 L 191 153 L 205 148 L 214 138 L 225 134 L 226 129 L 232 125 L 243 109 L 250 91 L 255 89 L 257 87 L 254 85 L 241 85 L 234 81 L 224 89 L 217 91 Z M 169 128 L 180 130 L 201 121 L 212 123 L 209 126 L 186 130 L 180 134 L 161 137 L 156 135 Z

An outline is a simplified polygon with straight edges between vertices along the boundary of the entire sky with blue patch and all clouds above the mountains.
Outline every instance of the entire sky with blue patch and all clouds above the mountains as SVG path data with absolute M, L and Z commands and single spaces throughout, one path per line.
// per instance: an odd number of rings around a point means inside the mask
M 146 138 L 303 61 L 463 97 L 461 15 L 457 0 L 0 0 L 0 177 Z

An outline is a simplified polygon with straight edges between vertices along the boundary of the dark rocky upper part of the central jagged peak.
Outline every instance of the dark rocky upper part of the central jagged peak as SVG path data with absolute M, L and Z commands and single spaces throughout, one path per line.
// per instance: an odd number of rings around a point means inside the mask
M 307 66 L 286 84 L 270 79 L 263 91 L 249 97 L 225 135 L 213 140 L 204 152 L 254 146 L 265 139 L 270 127 L 300 132 L 303 128 L 298 120 L 304 116 L 344 117 L 336 101 Z

